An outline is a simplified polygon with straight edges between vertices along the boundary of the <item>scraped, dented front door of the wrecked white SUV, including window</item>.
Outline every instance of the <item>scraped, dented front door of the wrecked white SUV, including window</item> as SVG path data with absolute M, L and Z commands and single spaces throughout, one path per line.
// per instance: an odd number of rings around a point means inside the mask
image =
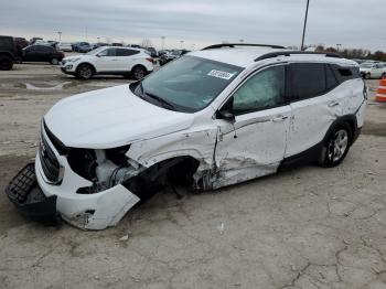
M 291 118 L 285 88 L 286 66 L 271 66 L 244 82 L 221 108 L 215 120 L 214 189 L 276 172 L 285 157 Z M 221 119 L 225 108 L 233 110 L 234 121 Z

